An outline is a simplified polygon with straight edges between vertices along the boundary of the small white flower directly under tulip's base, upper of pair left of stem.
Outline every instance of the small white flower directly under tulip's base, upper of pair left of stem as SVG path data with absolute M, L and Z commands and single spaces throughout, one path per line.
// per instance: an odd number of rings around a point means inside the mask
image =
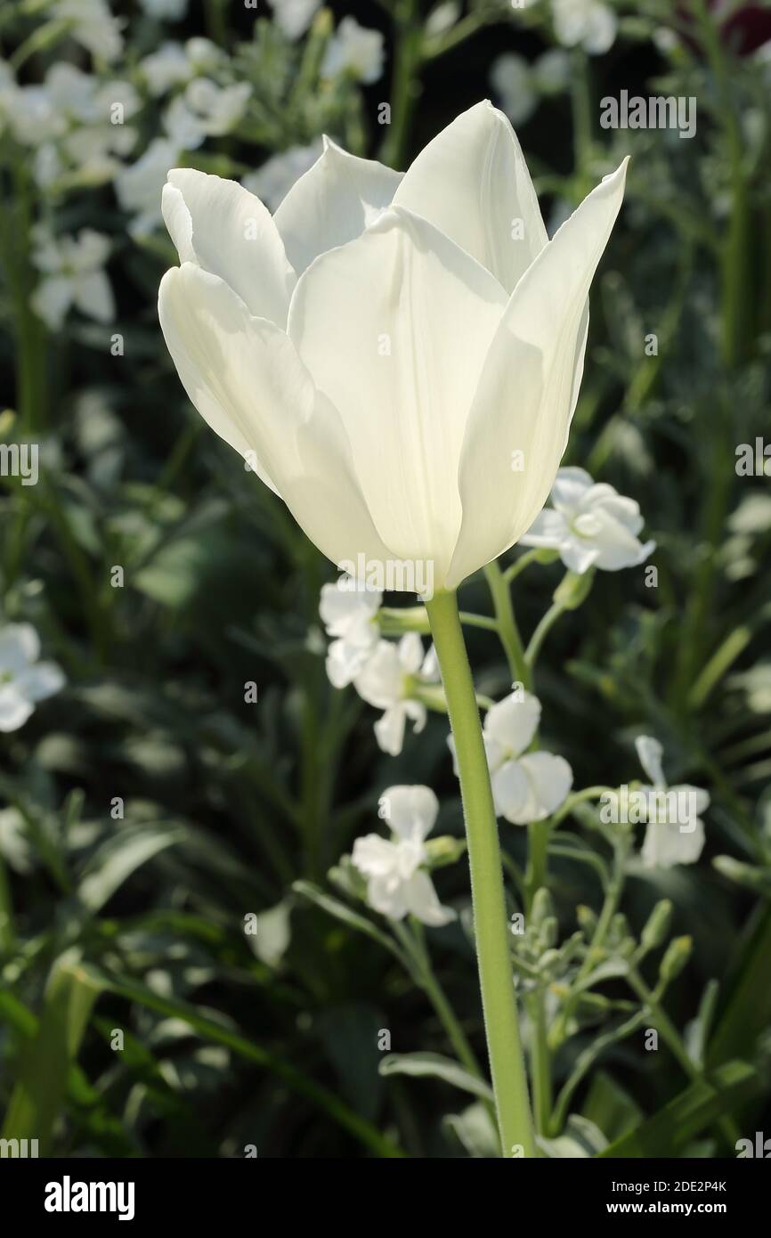
M 318 613 L 328 636 L 335 639 L 327 651 L 327 675 L 335 688 L 344 688 L 364 669 L 380 639 L 376 614 L 382 593 L 342 576 L 322 586 Z

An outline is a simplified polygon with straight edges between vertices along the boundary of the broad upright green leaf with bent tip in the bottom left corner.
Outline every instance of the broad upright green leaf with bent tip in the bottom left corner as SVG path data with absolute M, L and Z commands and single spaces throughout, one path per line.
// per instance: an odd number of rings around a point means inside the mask
M 74 953 L 53 964 L 37 1034 L 21 1056 L 2 1127 L 4 1139 L 37 1139 L 47 1156 L 83 1034 L 101 984 Z

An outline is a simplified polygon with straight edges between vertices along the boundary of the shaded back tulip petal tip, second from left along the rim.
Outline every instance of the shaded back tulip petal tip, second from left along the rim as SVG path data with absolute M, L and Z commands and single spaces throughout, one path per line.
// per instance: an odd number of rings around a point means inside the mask
M 292 266 L 301 275 L 319 254 L 355 240 L 391 204 L 402 178 L 324 137 L 324 151 L 292 186 L 275 214 Z

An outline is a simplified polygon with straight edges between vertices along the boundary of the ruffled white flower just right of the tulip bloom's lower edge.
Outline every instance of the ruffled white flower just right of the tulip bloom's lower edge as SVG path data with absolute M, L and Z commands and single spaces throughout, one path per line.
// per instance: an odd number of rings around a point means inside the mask
M 636 567 L 656 550 L 655 541 L 637 539 L 645 522 L 640 505 L 604 482 L 595 484 L 583 468 L 559 469 L 551 501 L 520 545 L 559 551 L 572 572 L 590 567 L 618 572 Z

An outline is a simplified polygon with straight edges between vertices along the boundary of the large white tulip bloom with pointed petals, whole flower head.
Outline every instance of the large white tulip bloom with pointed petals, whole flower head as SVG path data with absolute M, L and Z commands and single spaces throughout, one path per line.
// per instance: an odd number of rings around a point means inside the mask
M 158 311 L 182 384 L 333 563 L 431 563 L 453 589 L 546 501 L 624 178 L 549 241 L 489 103 L 405 176 L 327 140 L 275 217 L 176 168 L 163 218 L 182 265 Z

